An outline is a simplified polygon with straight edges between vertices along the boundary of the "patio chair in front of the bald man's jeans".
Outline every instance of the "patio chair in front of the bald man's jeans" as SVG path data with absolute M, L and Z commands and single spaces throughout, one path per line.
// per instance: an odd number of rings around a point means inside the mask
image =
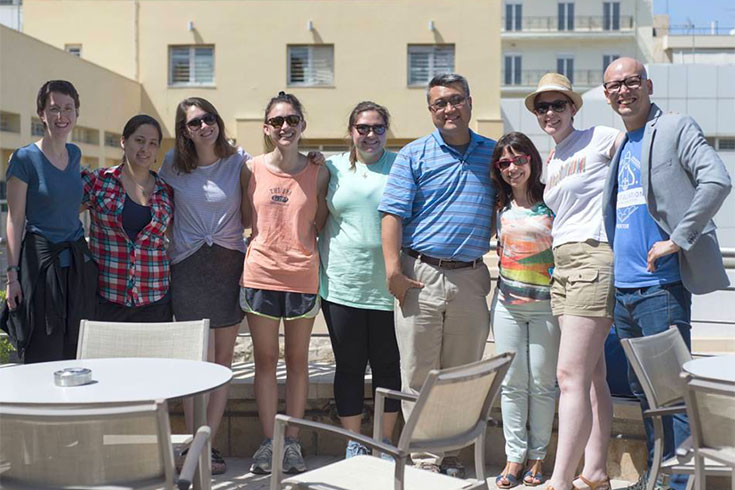
M 686 413 L 687 410 L 684 403 L 686 383 L 681 379 L 680 373 L 682 365 L 690 361 L 692 355 L 679 330 L 676 326 L 671 326 L 665 332 L 621 339 L 620 343 L 648 401 L 648 410 L 643 412 L 643 417 L 650 417 L 653 422 L 653 462 L 648 472 L 646 490 L 654 490 L 660 473 L 694 475 L 691 438 L 677 448 L 676 456 L 663 461 L 663 417 Z M 707 473 L 727 476 L 729 470 L 708 460 Z M 687 488 L 693 486 L 693 480 L 689 478 Z

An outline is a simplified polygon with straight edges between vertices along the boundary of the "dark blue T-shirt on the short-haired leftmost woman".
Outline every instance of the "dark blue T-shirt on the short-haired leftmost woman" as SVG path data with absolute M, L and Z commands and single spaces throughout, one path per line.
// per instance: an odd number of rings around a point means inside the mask
M 82 204 L 82 152 L 67 143 L 69 163 L 59 170 L 35 144 L 19 148 L 10 157 L 6 180 L 16 177 L 28 184 L 26 230 L 52 243 L 75 241 L 84 236 L 79 221 Z

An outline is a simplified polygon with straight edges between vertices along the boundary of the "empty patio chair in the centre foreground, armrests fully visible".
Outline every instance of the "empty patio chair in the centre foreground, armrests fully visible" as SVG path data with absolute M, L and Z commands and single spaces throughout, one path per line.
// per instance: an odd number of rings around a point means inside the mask
M 490 409 L 512 359 L 512 353 L 504 353 L 466 366 L 441 371 L 432 370 L 418 396 L 379 388 L 375 398 L 376 437 L 374 438 L 318 422 L 277 415 L 273 437 L 271 490 L 283 486 L 322 490 L 487 489 L 485 431 L 490 418 Z M 385 398 L 396 398 L 416 404 L 401 432 L 397 446 L 381 442 Z M 356 440 L 372 448 L 373 451 L 392 456 L 395 462 L 374 456 L 355 456 L 282 479 L 283 437 L 289 425 L 328 431 L 345 439 Z M 475 480 L 462 480 L 406 467 L 406 460 L 412 452 L 449 451 L 473 443 L 477 474 Z

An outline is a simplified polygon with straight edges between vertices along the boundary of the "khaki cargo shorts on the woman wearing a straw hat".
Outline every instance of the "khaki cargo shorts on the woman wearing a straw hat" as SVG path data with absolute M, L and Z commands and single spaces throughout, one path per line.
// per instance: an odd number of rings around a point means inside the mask
M 607 243 L 587 240 L 554 248 L 554 315 L 612 318 L 614 307 L 613 254 Z

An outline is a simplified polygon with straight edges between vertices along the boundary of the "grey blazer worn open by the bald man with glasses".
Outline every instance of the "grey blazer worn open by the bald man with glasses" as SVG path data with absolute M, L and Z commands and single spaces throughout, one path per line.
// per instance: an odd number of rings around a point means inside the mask
M 712 217 L 732 184 L 725 164 L 689 116 L 664 114 L 651 104 L 641 149 L 641 185 L 648 211 L 671 240 L 681 247 L 679 269 L 684 286 L 694 294 L 727 287 L 730 282 Z M 605 231 L 615 241 L 618 162 L 622 146 L 610 162 L 605 182 Z

